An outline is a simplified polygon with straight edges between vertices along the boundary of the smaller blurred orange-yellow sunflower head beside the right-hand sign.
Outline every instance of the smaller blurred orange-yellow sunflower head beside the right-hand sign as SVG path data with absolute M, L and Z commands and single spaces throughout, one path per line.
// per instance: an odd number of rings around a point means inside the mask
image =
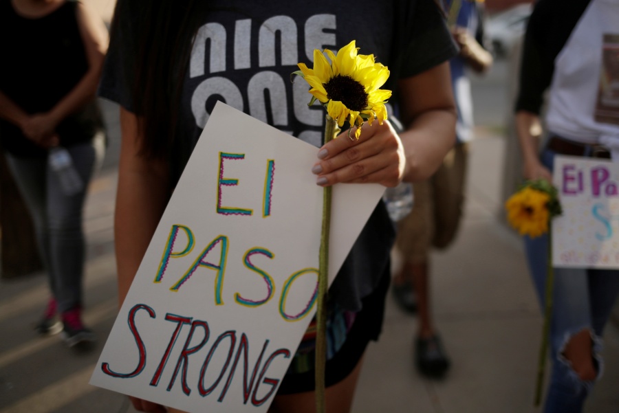
M 548 232 L 551 196 L 547 192 L 525 186 L 505 203 L 508 221 L 521 235 L 535 238 Z

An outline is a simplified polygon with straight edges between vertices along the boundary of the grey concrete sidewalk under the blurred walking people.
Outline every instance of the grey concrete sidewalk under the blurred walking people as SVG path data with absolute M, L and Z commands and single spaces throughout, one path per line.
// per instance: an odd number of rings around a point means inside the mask
M 108 120 L 111 133 L 117 133 L 118 120 Z M 365 357 L 354 413 L 537 411 L 532 399 L 541 317 L 521 244 L 496 218 L 504 148 L 503 139 L 491 134 L 473 143 L 464 224 L 455 245 L 433 256 L 435 319 L 452 369 L 443 381 L 417 375 L 415 318 L 397 309 L 390 296 L 382 338 Z M 32 323 L 47 300 L 45 276 L 3 280 L 0 413 L 134 412 L 126 397 L 87 384 L 116 315 L 112 221 L 117 159 L 118 142 L 112 139 L 86 208 L 85 322 L 98 343 L 76 353 L 58 336 L 36 337 Z M 615 325 L 607 329 L 605 357 L 607 373 L 587 412 L 619 411 Z

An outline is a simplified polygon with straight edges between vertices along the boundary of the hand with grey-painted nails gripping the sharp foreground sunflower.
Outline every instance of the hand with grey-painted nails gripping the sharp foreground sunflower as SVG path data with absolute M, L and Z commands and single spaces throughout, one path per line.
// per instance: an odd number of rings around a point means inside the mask
M 364 123 L 358 140 L 354 131 L 340 133 L 318 150 L 319 161 L 312 167 L 316 184 L 330 186 L 338 182 L 380 183 L 397 186 L 404 176 L 404 147 L 389 122 Z

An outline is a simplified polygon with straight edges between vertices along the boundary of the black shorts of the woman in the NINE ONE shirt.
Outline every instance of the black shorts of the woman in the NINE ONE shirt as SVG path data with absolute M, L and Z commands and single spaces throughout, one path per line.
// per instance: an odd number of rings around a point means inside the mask
M 340 350 L 327 360 L 325 368 L 325 386 L 330 387 L 339 383 L 355 369 L 365 353 L 370 340 L 378 340 L 382 331 L 384 319 L 384 301 L 389 289 L 391 270 L 389 265 L 380 277 L 378 287 L 370 295 L 362 298 L 361 311 L 346 335 L 346 340 Z M 314 370 L 298 374 L 287 374 L 283 378 L 277 394 L 294 394 L 312 392 L 315 387 Z

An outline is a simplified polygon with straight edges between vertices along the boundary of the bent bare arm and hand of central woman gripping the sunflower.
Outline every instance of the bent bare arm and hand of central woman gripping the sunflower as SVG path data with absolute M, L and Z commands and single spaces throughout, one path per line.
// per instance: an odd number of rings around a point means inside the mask
M 318 151 L 312 171 L 321 186 L 338 182 L 376 182 L 397 186 L 422 181 L 440 166 L 455 141 L 455 104 L 448 63 L 400 80 L 402 121 L 398 135 L 389 122 L 363 127 L 351 141 L 345 131 Z

